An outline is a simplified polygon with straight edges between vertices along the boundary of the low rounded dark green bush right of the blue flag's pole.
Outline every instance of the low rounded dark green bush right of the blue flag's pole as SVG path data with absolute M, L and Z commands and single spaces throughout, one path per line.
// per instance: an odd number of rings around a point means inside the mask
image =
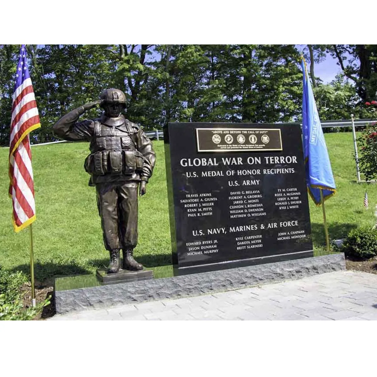
M 352 229 L 342 245 L 347 256 L 369 259 L 377 255 L 377 229 L 360 227 Z

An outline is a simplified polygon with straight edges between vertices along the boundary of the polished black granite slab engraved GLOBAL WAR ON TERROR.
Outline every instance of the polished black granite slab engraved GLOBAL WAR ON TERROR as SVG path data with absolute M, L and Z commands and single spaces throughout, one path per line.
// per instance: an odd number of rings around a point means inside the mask
M 300 127 L 164 128 L 175 275 L 313 256 Z

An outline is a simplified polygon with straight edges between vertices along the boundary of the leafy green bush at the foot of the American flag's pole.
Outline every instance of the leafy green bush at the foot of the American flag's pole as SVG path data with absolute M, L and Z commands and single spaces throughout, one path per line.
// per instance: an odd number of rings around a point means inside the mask
M 10 272 L 0 265 L 0 320 L 31 320 L 49 305 L 51 296 L 34 308 L 23 308 L 20 290 L 28 281 L 23 272 Z

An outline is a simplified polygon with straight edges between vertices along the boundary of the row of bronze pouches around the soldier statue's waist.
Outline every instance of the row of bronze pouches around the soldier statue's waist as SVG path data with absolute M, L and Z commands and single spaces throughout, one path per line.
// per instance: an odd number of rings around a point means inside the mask
M 103 150 L 87 156 L 84 169 L 89 174 L 133 174 L 143 169 L 144 157 L 138 150 Z

